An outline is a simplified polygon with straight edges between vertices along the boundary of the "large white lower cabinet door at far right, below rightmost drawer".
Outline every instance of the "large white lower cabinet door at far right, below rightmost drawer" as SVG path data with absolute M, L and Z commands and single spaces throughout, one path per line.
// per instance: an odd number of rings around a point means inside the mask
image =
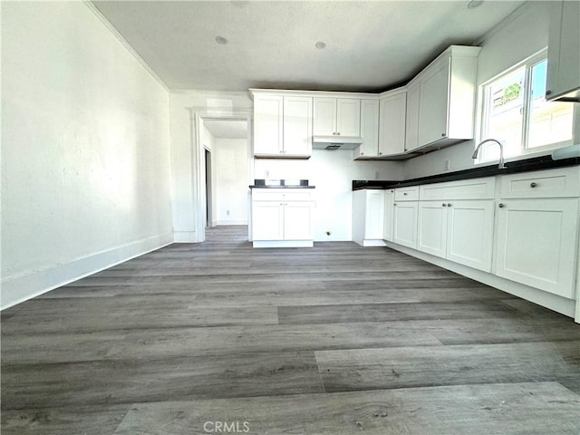
M 500 205 L 496 274 L 574 298 L 578 199 L 508 199 Z

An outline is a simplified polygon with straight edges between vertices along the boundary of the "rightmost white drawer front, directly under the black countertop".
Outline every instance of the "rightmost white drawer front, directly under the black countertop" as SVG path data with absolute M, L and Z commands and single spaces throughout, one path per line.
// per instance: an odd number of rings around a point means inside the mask
M 580 196 L 580 167 L 538 170 L 501 176 L 501 198 Z

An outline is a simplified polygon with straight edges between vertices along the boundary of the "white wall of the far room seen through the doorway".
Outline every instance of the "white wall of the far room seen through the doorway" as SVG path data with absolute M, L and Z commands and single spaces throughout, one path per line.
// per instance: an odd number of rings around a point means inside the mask
M 216 138 L 212 159 L 218 225 L 247 225 L 247 140 Z

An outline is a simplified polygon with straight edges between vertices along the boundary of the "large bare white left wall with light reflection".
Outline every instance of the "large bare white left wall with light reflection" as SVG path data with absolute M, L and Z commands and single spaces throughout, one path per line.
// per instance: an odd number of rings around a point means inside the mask
M 81 2 L 2 5 L 2 306 L 172 241 L 169 93 Z

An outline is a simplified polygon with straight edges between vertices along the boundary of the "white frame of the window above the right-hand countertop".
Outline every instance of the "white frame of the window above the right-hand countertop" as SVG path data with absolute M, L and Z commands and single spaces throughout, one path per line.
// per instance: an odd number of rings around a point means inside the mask
M 569 140 L 559 141 L 548 143 L 546 145 L 541 145 L 538 147 L 529 147 L 529 131 L 530 131 L 530 121 L 532 116 L 532 111 L 530 110 L 530 102 L 532 97 L 532 89 L 530 83 L 532 81 L 532 73 L 533 68 L 538 63 L 542 63 L 547 59 L 547 47 L 543 48 L 542 50 L 528 56 L 521 62 L 512 65 L 511 67 L 507 68 L 506 70 L 502 71 L 501 73 L 496 74 L 495 76 L 488 79 L 486 82 L 482 82 L 478 86 L 478 118 L 477 118 L 477 131 L 475 135 L 475 143 L 474 148 L 477 146 L 481 140 L 491 139 L 484 136 L 484 129 L 486 128 L 486 122 L 488 120 L 488 106 L 486 104 L 488 102 L 488 86 L 494 82 L 497 82 L 502 77 L 507 76 L 510 73 L 514 73 L 517 70 L 521 69 L 522 67 L 525 68 L 524 72 L 524 101 L 522 106 L 522 131 L 521 131 L 521 143 L 519 146 L 519 150 L 517 154 L 511 155 L 506 158 L 506 160 L 518 160 L 522 157 L 529 157 L 535 154 L 546 154 L 547 151 L 557 150 L 558 148 L 562 148 L 568 145 L 572 145 L 575 143 L 575 135 L 577 128 L 576 126 L 580 124 L 580 110 L 578 110 L 578 106 L 580 104 L 574 104 L 572 109 L 572 137 Z M 497 139 L 497 138 L 493 138 Z M 485 146 L 484 146 L 485 148 Z M 481 151 L 484 151 L 483 149 Z M 488 164 L 489 162 L 497 161 L 497 158 L 492 159 L 484 159 L 485 152 L 479 152 L 478 159 L 474 161 L 474 164 Z

